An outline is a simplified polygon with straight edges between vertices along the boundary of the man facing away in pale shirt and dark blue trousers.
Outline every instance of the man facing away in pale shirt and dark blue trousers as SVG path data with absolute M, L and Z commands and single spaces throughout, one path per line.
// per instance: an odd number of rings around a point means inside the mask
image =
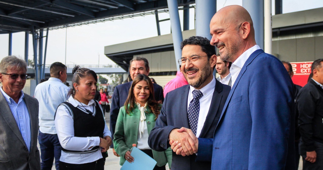
M 60 62 L 50 65 L 50 78 L 40 83 L 35 89 L 35 98 L 39 102 L 39 135 L 38 142 L 41 152 L 41 169 L 51 170 L 55 157 L 56 170 L 61 155 L 55 129 L 54 115 L 59 104 L 67 100 L 69 87 L 64 85 L 67 73 L 66 66 Z

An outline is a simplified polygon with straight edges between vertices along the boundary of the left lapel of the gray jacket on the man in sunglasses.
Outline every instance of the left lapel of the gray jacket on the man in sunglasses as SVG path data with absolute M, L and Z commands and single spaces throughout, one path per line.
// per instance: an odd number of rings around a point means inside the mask
M 12 114 L 7 101 L 5 100 L 5 96 L 2 93 L 0 94 L 0 104 L 1 104 L 0 115 L 5 119 L 5 122 L 10 127 L 10 129 L 14 132 L 14 134 L 18 137 L 18 139 L 27 147 L 25 140 L 20 133 L 16 119 Z

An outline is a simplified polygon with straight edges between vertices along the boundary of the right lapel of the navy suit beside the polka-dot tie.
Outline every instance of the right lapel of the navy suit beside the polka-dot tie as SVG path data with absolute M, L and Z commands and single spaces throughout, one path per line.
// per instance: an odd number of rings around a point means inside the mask
M 215 82 L 216 83 L 215 83 L 214 92 L 211 100 L 211 105 L 209 108 L 209 112 L 207 113 L 203 128 L 201 130 L 200 137 L 204 137 L 205 134 L 209 131 L 217 115 L 217 111 L 221 103 L 222 95 L 220 95 L 219 93 L 222 92 L 222 85 L 218 80 L 215 80 Z

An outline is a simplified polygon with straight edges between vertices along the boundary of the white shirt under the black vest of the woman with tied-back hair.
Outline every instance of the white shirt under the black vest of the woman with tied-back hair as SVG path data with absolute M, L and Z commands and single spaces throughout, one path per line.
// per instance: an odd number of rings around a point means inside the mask
M 68 98 L 68 101 L 74 107 L 79 107 L 84 110 L 88 109 L 93 112 L 93 105 L 96 103 L 94 100 L 90 100 L 88 105 L 78 102 L 72 96 Z M 84 108 L 83 108 L 84 107 Z M 101 108 L 101 106 L 99 105 Z M 102 111 L 102 108 L 101 108 Z M 104 115 L 102 112 L 102 119 L 104 119 Z M 105 122 L 105 120 L 104 120 Z M 89 136 L 89 137 L 75 137 L 74 136 L 74 121 L 72 116 L 69 114 L 67 108 L 63 105 L 58 106 L 55 117 L 55 127 L 59 139 L 59 143 L 63 148 L 67 150 L 73 151 L 89 151 L 94 146 L 99 146 L 100 137 L 99 136 Z M 111 132 L 107 124 L 104 126 L 103 136 L 110 136 Z M 85 154 L 75 154 L 75 153 L 66 153 L 64 151 L 61 152 L 60 161 L 69 163 L 69 164 L 84 164 L 94 162 L 98 159 L 102 158 L 101 150 L 97 150 L 93 153 L 85 153 Z

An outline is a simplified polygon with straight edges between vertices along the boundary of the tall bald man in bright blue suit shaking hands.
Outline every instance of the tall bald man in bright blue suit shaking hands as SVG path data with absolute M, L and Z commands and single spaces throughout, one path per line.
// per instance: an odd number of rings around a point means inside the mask
M 220 9 L 210 33 L 220 58 L 233 62 L 232 89 L 214 138 L 191 135 L 198 144 L 197 158 L 212 161 L 212 169 L 294 170 L 295 104 L 284 65 L 256 45 L 251 16 L 242 6 Z

